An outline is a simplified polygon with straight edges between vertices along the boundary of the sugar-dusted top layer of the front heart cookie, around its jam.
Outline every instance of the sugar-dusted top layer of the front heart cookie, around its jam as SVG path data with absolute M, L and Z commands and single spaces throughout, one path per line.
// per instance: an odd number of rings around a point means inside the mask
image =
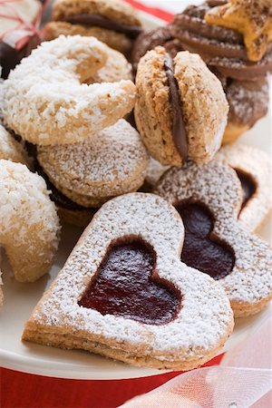
M 157 254 L 157 271 L 182 294 L 178 316 L 167 325 L 145 325 L 121 316 L 102 316 L 78 306 L 112 240 L 143 238 Z M 133 346 L 135 355 L 181 361 L 222 344 L 232 325 L 228 298 L 218 283 L 180 262 L 184 228 L 175 209 L 158 196 L 132 193 L 108 201 L 83 232 L 53 285 L 26 324 L 92 335 L 112 348 Z

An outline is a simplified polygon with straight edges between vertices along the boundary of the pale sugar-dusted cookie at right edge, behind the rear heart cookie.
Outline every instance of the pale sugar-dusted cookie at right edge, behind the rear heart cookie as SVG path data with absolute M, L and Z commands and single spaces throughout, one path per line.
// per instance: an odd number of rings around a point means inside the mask
M 250 231 L 259 229 L 272 209 L 272 168 L 265 151 L 245 144 L 223 147 L 216 156 L 228 162 L 238 174 L 243 189 L 239 222 Z

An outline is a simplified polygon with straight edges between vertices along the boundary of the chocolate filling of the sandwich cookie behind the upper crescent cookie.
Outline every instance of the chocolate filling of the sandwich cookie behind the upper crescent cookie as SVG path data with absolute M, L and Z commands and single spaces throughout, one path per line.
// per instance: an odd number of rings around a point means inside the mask
M 68 15 L 63 17 L 62 21 L 71 24 L 94 25 L 96 27 L 106 28 L 108 30 L 116 31 L 117 33 L 125 34 L 131 38 L 138 37 L 142 32 L 140 25 L 116 23 L 103 15 Z

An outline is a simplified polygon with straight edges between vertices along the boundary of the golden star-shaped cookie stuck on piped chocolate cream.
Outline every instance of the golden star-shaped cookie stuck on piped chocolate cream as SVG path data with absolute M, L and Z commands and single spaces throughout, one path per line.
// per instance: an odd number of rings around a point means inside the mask
M 270 0 L 229 0 L 213 7 L 205 15 L 209 24 L 237 30 L 244 36 L 248 59 L 257 62 L 272 41 L 272 5 Z

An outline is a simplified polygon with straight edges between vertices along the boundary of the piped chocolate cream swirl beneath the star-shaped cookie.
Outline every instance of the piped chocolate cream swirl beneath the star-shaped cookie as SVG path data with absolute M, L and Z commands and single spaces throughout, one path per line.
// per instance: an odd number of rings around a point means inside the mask
M 258 63 L 248 60 L 243 36 L 228 28 L 206 23 L 205 14 L 218 2 L 189 5 L 175 16 L 170 33 L 180 40 L 181 46 L 199 53 L 206 63 L 220 74 L 238 80 L 255 80 L 272 69 L 272 44 Z M 223 4 L 221 2 L 220 4 Z

